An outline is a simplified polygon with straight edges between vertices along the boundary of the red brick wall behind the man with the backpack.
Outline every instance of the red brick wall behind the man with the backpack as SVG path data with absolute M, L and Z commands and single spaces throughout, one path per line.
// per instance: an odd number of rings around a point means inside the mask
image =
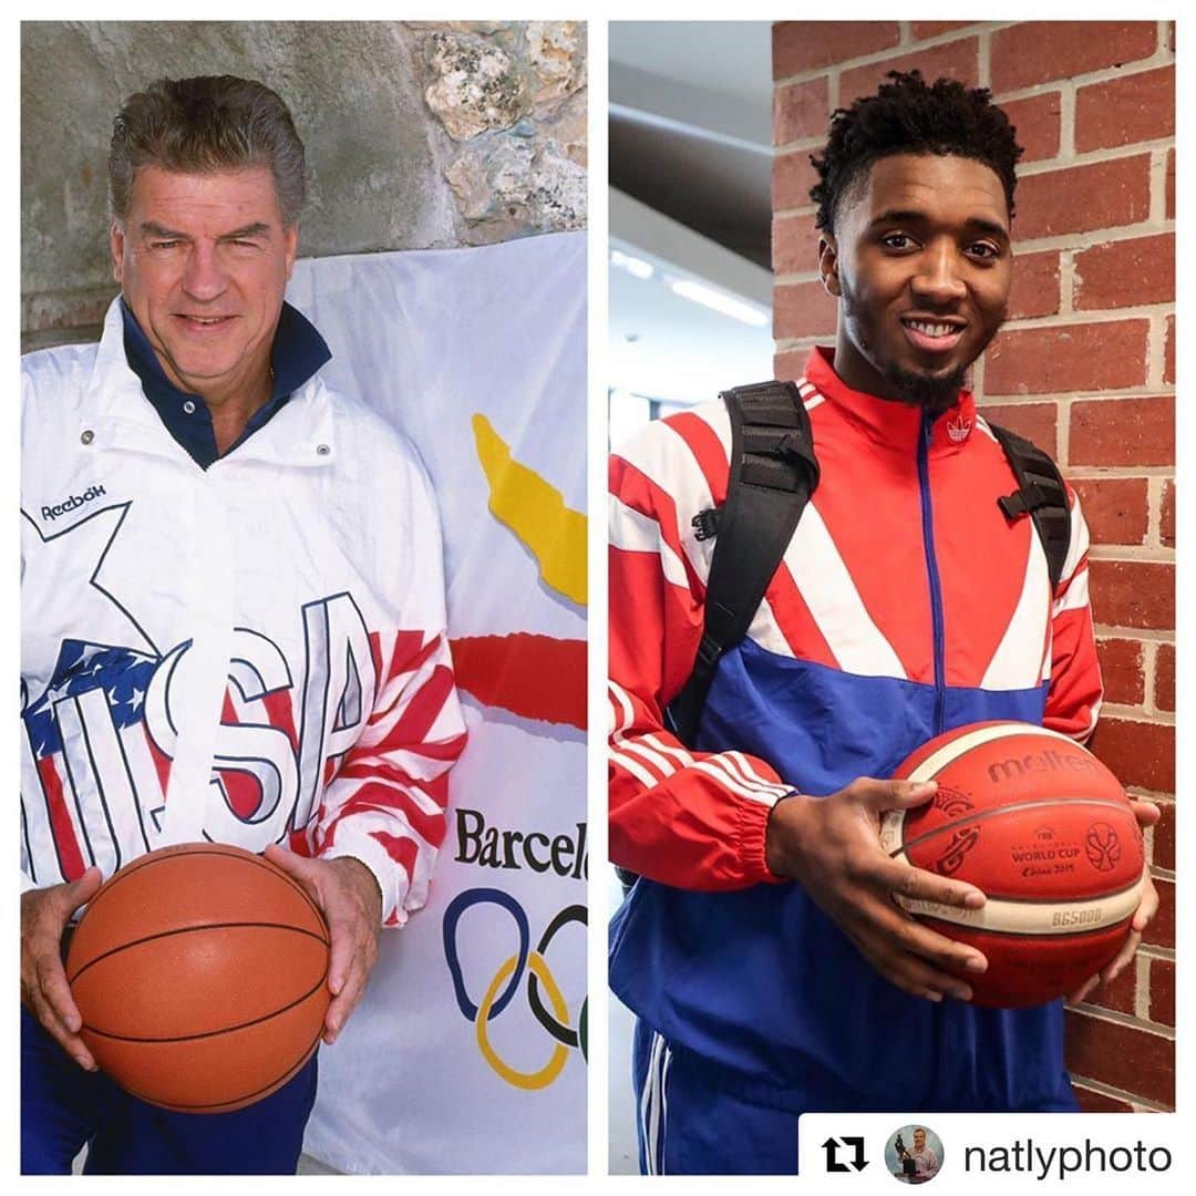
M 993 90 L 1025 147 L 1011 319 L 977 364 L 986 414 L 1052 452 L 1092 531 L 1105 706 L 1097 753 L 1163 807 L 1163 901 L 1135 965 L 1069 1009 L 1085 1109 L 1174 1103 L 1174 33 L 1155 22 L 774 26 L 777 377 L 835 329 L 808 155 L 830 112 L 920 67 Z

